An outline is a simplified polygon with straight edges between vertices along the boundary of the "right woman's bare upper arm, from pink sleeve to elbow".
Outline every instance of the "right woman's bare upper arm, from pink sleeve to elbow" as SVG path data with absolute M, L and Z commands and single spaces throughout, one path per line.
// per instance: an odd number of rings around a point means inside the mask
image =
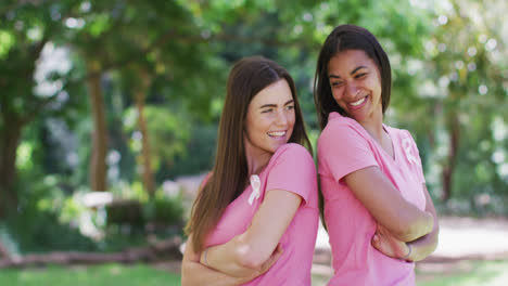
M 412 242 L 432 232 L 434 218 L 431 212 L 421 211 L 404 199 L 379 167 L 357 170 L 344 180 L 378 223 L 398 240 Z

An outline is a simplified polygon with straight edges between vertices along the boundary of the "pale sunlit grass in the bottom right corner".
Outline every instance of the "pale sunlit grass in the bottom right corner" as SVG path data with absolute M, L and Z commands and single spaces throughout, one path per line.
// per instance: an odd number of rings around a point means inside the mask
M 418 271 L 418 286 L 506 286 L 508 285 L 508 260 L 463 260 L 450 269 Z

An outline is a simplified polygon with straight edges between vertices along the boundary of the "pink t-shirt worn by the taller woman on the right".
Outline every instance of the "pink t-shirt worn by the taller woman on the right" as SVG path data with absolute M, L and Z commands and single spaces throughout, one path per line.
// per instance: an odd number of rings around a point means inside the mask
M 377 222 L 343 181 L 351 172 L 378 166 L 406 200 L 426 208 L 424 178 L 415 141 L 406 130 L 383 127 L 392 139 L 394 157 L 357 121 L 338 113 L 330 114 L 319 136 L 318 172 L 335 272 L 328 285 L 416 284 L 415 263 L 386 257 L 371 246 Z

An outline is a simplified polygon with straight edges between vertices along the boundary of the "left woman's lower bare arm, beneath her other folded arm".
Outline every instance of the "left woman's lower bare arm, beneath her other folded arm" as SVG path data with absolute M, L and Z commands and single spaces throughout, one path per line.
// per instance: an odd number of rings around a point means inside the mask
M 181 263 L 181 285 L 182 286 L 234 286 L 241 285 L 258 275 L 265 273 L 278 259 L 278 256 L 272 256 L 268 261 L 263 264 L 257 271 L 252 271 L 250 275 L 245 276 L 230 276 L 225 273 L 209 269 L 200 263 L 200 256 L 194 252 L 191 244 L 191 237 L 186 245 L 183 260 Z

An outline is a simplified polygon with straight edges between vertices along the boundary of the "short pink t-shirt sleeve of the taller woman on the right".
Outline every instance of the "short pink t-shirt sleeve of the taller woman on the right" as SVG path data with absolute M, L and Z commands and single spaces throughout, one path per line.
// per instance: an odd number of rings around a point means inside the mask
M 329 122 L 318 141 L 318 160 L 335 182 L 357 170 L 379 166 L 368 140 L 350 123 Z

